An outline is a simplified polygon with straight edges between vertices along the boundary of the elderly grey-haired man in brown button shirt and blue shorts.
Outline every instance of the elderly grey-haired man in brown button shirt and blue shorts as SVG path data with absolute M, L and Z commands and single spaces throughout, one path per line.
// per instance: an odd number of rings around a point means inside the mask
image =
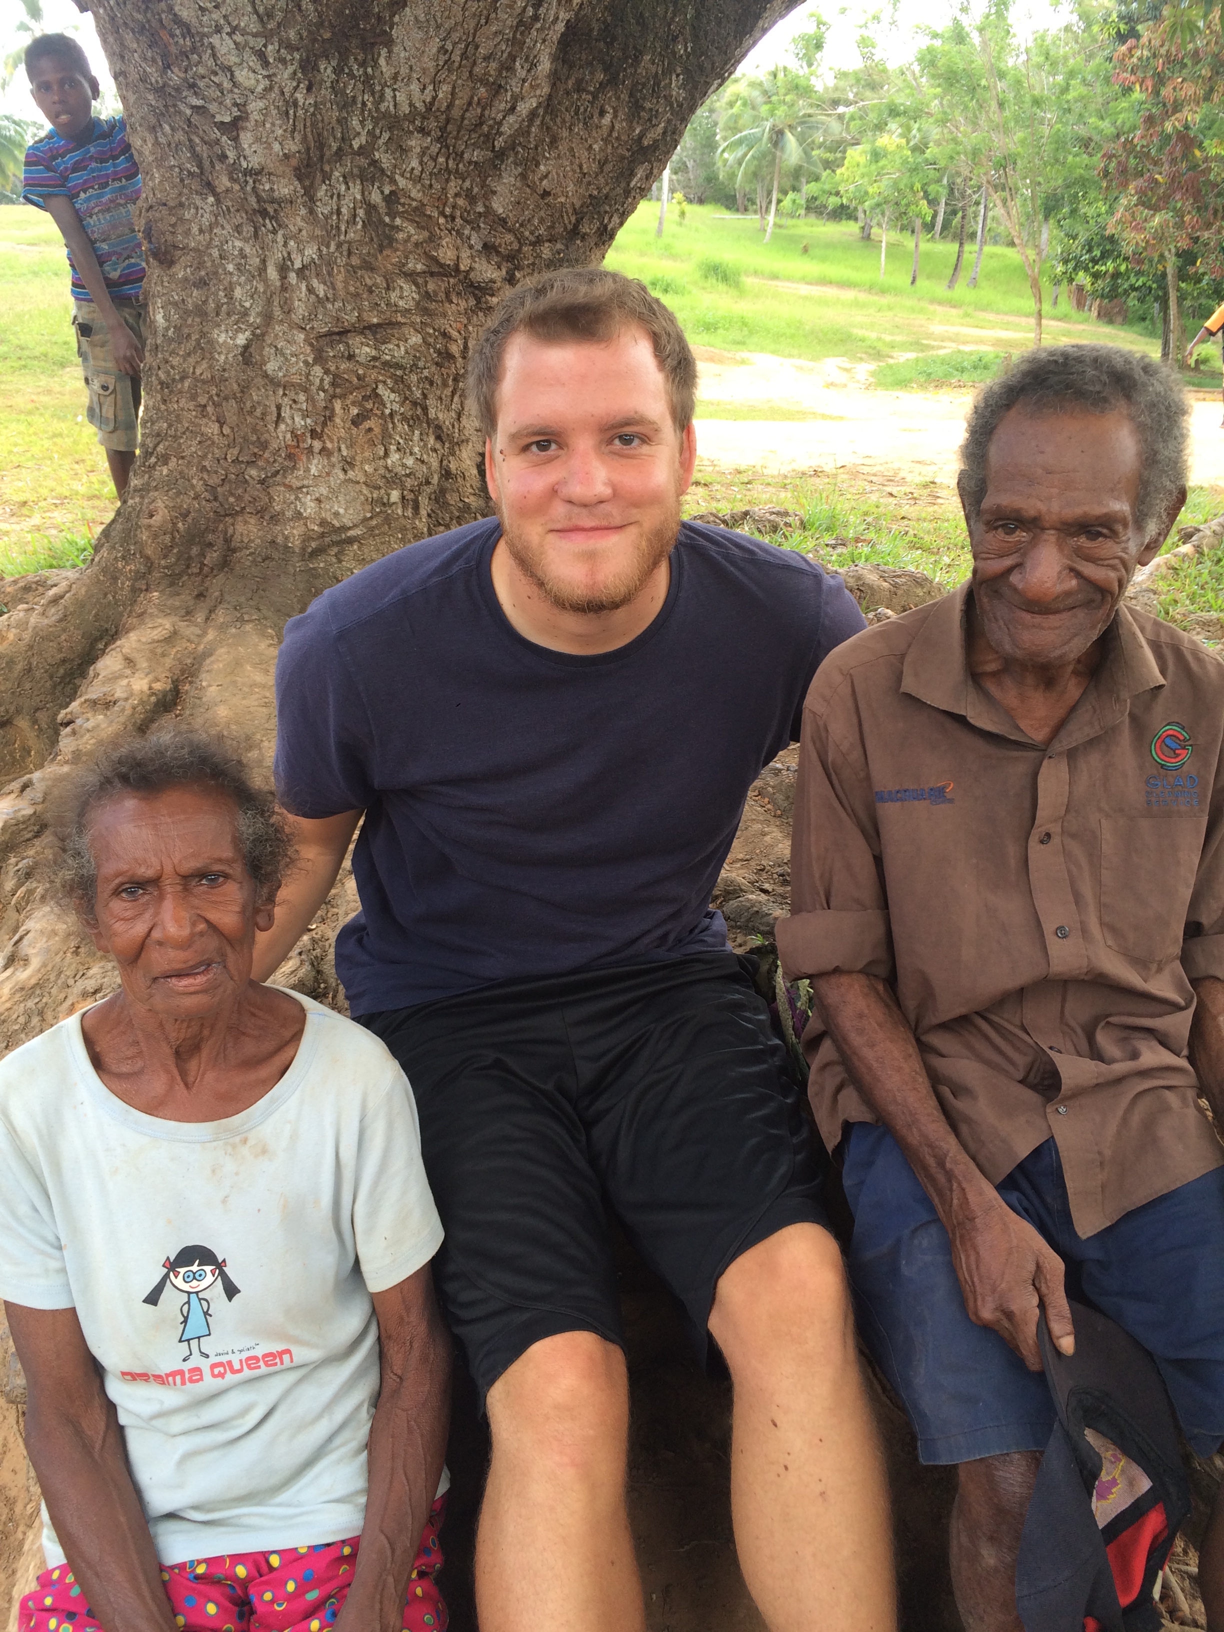
M 840 1151 L 863 1337 L 960 1466 L 968 1632 L 1013 1632 L 1067 1291 L 1224 1439 L 1224 664 L 1123 605 L 1185 499 L 1186 406 L 1113 346 L 1035 351 L 961 450 L 973 578 L 808 694 L 788 976 Z M 1224 1508 L 1200 1563 L 1224 1632 Z

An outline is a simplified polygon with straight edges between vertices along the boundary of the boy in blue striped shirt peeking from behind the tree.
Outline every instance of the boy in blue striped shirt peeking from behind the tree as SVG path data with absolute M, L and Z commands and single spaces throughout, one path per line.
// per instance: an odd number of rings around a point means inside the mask
M 26 73 L 51 131 L 26 150 L 21 197 L 46 209 L 64 233 L 88 419 L 122 498 L 135 462 L 145 346 L 145 259 L 132 220 L 140 170 L 122 114 L 95 118 L 98 80 L 75 39 L 31 41 Z

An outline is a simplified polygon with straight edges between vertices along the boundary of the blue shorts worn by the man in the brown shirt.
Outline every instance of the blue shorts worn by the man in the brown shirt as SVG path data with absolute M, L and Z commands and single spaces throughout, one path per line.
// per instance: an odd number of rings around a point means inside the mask
M 1043 1451 L 1054 1426 L 1046 1379 L 969 1320 L 947 1231 L 901 1147 L 886 1128 L 855 1123 L 844 1152 L 858 1328 L 909 1412 L 920 1459 Z M 1059 1253 L 1067 1293 L 1155 1358 L 1182 1431 L 1211 1456 L 1224 1439 L 1224 1169 L 1087 1240 L 1071 1222 L 1053 1139 L 1012 1169 L 999 1195 Z

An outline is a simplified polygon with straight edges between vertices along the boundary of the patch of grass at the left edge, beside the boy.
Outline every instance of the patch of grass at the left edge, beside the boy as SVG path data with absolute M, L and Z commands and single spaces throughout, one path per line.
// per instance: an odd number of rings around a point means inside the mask
M 64 245 L 28 204 L 0 206 L 0 578 L 88 560 L 114 512 L 85 421 Z

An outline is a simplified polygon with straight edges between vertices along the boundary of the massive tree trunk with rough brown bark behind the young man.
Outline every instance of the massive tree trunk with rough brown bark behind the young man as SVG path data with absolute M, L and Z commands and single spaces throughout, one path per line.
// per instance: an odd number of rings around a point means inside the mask
M 93 563 L 0 592 L 0 1053 L 111 981 L 39 883 L 60 769 L 168 713 L 268 764 L 284 620 L 488 512 L 494 302 L 599 263 L 792 8 L 93 0 L 144 173 L 144 446 Z

